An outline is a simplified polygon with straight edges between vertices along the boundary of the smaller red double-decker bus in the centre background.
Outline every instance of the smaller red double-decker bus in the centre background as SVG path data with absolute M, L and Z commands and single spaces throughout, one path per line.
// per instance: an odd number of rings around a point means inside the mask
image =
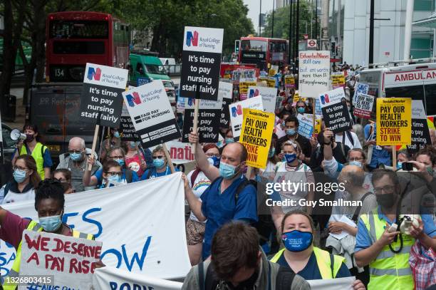
M 281 38 L 247 36 L 239 43 L 240 63 L 254 63 L 261 71 L 271 65 L 284 67 L 288 63 L 288 41 Z

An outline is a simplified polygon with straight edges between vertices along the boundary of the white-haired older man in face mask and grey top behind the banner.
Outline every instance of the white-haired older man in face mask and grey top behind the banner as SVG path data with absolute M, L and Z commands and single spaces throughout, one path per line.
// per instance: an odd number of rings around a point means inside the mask
M 83 175 L 88 166 L 88 157 L 91 154 L 91 150 L 85 147 L 85 140 L 80 137 L 71 138 L 68 143 L 68 152 L 59 155 L 59 165 L 56 170 L 66 169 L 71 172 L 71 186 L 76 192 L 83 192 L 86 190 L 83 185 Z M 94 157 L 97 155 L 94 153 Z M 100 162 L 95 161 L 90 171 L 90 175 L 95 174 L 102 168 Z M 92 188 L 93 189 L 93 188 Z

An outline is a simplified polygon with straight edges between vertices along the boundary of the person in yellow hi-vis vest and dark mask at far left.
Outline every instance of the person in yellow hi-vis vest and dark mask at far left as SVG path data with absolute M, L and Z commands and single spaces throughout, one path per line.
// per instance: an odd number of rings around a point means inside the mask
M 53 165 L 51 161 L 50 151 L 42 143 L 38 142 L 39 133 L 38 127 L 32 124 L 25 124 L 23 132 L 26 134 L 26 140 L 20 140 L 17 144 L 17 150 L 14 152 L 12 158 L 12 165 L 15 165 L 16 158 L 19 155 L 32 155 L 36 161 L 36 171 L 38 172 L 41 180 L 44 178 L 50 178 L 50 167 Z

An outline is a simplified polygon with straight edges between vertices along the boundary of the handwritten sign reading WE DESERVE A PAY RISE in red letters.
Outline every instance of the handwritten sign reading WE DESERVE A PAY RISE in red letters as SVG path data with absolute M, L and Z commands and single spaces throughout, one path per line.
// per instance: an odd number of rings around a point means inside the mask
M 101 242 L 88 239 L 26 229 L 21 239 L 20 275 L 53 275 L 53 289 L 92 289 L 101 245 Z M 46 283 L 19 285 L 19 290 L 37 289 L 36 284 Z

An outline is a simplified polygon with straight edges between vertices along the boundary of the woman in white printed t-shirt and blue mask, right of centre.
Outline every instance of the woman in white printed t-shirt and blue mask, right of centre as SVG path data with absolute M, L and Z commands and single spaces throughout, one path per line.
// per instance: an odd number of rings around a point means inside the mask
M 289 204 L 282 205 L 282 209 L 284 213 L 297 209 L 304 210 L 299 200 L 306 200 L 306 204 L 310 204 L 307 201 L 313 201 L 315 187 L 313 172 L 308 165 L 301 162 L 298 158 L 301 154 L 299 143 L 286 141 L 281 145 L 281 152 L 284 153 L 285 160 L 277 164 L 274 182 L 281 183 L 285 181 L 289 184 L 288 181 L 290 181 L 292 185 L 299 186 L 290 189 L 282 188 L 279 192 L 282 202 L 289 202 Z M 291 204 L 291 201 L 294 202 L 294 205 Z M 312 207 L 310 205 L 306 207 L 306 212 L 311 214 Z

